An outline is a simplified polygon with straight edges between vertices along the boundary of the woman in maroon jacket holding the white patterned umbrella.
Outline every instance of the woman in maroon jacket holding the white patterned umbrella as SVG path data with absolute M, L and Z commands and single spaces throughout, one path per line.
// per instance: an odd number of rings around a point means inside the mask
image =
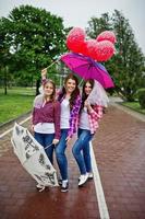
M 35 139 L 45 148 L 52 163 L 55 145 L 60 140 L 60 103 L 56 101 L 56 85 L 46 80 L 43 94 L 34 100 L 32 129 Z

